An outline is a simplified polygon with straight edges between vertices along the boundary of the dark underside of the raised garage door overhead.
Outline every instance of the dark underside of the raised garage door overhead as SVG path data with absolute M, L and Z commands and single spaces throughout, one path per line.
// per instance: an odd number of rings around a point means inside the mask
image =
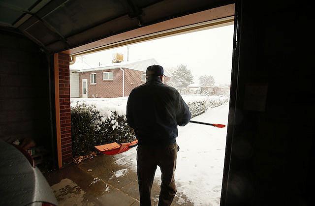
M 231 0 L 0 0 L 0 28 L 56 53 Z

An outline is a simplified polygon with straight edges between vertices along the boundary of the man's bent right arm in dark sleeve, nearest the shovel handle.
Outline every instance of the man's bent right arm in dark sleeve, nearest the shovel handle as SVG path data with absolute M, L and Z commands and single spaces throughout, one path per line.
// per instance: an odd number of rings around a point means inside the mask
M 182 96 L 180 95 L 179 92 L 177 92 L 178 95 L 178 108 L 176 112 L 176 120 L 177 124 L 179 126 L 185 126 L 188 124 L 190 118 L 191 118 L 191 113 L 189 111 L 188 105 L 186 102 L 183 100 Z

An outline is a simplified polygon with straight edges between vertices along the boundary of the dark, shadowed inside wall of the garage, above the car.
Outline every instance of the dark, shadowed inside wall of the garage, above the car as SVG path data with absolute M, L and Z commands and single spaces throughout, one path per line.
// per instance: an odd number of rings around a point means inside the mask
M 0 138 L 32 138 L 50 149 L 48 64 L 38 46 L 0 31 Z

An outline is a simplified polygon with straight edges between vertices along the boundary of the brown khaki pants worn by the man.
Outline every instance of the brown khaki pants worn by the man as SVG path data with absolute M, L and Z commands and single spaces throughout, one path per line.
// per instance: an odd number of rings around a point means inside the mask
M 160 167 L 162 173 L 158 206 L 171 205 L 176 194 L 174 171 L 178 149 L 177 144 L 137 147 L 140 206 L 151 206 L 151 188 L 157 166 Z

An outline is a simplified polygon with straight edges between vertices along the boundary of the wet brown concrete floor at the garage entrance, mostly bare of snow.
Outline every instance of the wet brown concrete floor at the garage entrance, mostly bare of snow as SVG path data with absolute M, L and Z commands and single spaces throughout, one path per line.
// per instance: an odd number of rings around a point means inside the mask
M 112 156 L 98 155 L 77 165 L 45 173 L 60 206 L 139 206 L 137 174 L 127 170 L 121 177 L 116 171 L 126 169 L 114 163 Z M 92 170 L 92 171 L 88 171 Z M 160 188 L 152 187 L 152 205 L 158 205 Z M 185 196 L 174 198 L 172 206 L 193 206 Z

